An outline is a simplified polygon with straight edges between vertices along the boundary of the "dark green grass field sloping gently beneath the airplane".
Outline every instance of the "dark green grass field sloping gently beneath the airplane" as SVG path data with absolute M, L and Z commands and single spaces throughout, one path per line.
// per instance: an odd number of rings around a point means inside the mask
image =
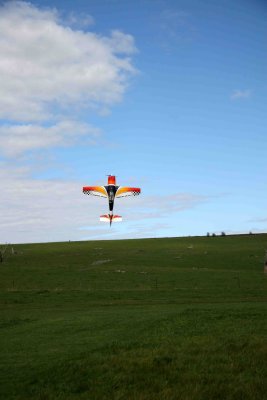
M 13 248 L 1 399 L 267 399 L 267 234 Z

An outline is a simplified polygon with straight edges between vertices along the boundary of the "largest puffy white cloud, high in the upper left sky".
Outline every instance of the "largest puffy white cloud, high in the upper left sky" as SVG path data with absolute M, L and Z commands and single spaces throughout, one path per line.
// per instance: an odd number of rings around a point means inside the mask
M 23 1 L 0 7 L 0 118 L 37 121 L 77 103 L 120 101 L 135 69 L 131 35 L 65 26 L 55 9 Z

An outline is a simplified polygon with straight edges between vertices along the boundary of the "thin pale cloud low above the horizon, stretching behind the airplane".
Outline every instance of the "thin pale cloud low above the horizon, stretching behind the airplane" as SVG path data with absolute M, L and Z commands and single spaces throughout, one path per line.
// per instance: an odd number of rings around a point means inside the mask
M 88 182 L 32 179 L 30 172 L 0 164 L 0 243 L 81 240 L 85 230 L 94 239 L 153 237 L 155 226 L 160 235 L 176 213 L 204 201 L 192 194 L 117 199 L 114 212 L 123 216 L 123 223 L 110 230 L 99 222 L 108 211 L 107 200 L 82 193 Z

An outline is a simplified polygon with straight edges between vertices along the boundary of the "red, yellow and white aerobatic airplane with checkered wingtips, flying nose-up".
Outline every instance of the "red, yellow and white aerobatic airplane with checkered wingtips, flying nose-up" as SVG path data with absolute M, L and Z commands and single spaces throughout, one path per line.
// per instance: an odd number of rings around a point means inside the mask
M 109 222 L 110 226 L 112 222 L 122 221 L 120 215 L 113 215 L 113 206 L 115 198 L 126 197 L 126 196 L 138 196 L 141 193 L 140 188 L 130 188 L 126 186 L 117 186 L 116 177 L 114 175 L 108 175 L 107 186 L 84 186 L 83 193 L 92 196 L 106 197 L 109 203 L 109 214 L 100 215 L 100 221 Z

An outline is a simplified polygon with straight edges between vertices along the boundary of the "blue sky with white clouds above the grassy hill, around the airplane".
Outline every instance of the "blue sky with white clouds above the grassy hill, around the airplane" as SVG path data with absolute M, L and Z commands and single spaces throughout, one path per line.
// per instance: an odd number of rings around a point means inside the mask
M 264 0 L 0 1 L 0 243 L 267 232 Z M 141 187 L 106 199 L 83 186 Z

